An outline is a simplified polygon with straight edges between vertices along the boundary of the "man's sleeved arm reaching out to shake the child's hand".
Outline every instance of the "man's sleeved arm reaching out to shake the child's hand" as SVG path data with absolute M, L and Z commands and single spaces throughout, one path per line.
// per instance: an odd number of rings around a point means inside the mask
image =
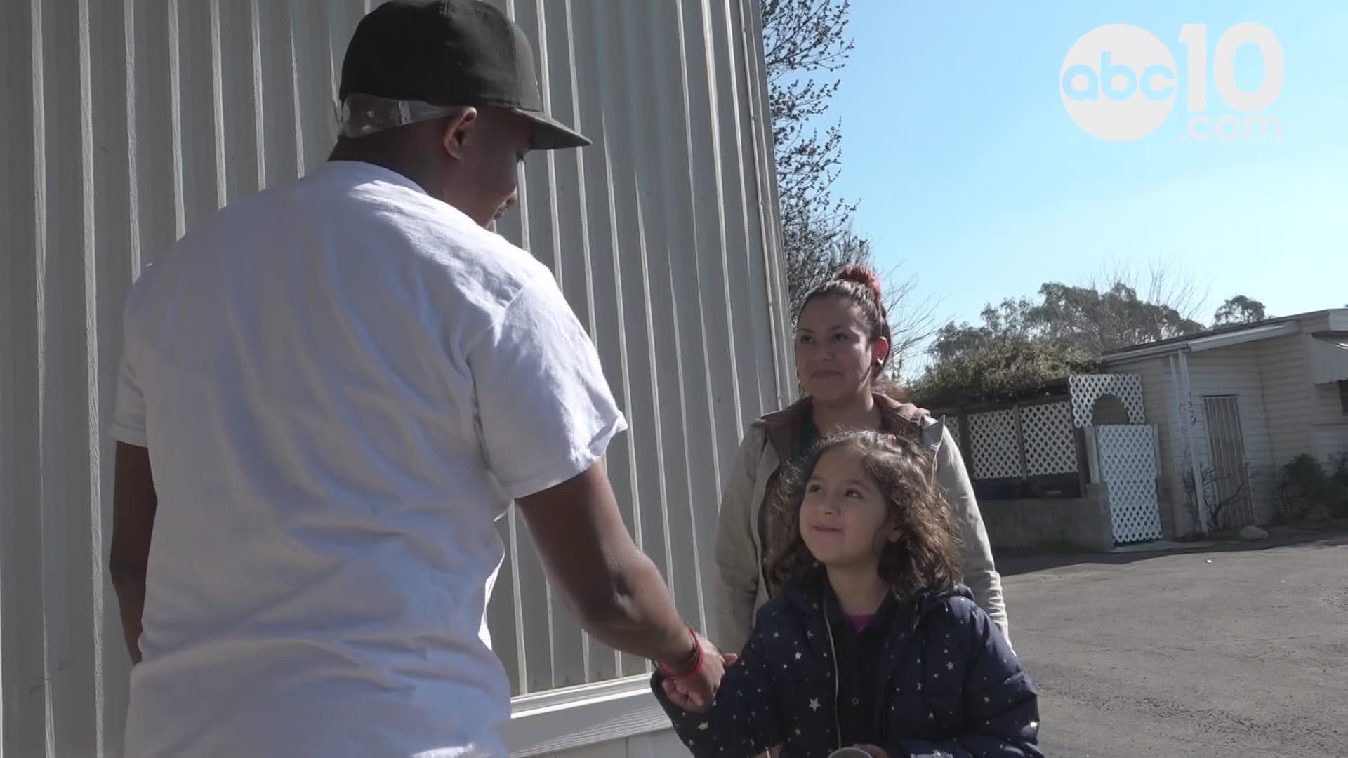
M 519 504 L 581 626 L 689 674 L 681 682 L 709 703 L 721 655 L 705 641 L 694 646 L 665 580 L 627 533 L 603 463 L 627 425 L 557 283 L 539 275 L 526 285 L 468 349 L 468 364 L 487 467 Z

